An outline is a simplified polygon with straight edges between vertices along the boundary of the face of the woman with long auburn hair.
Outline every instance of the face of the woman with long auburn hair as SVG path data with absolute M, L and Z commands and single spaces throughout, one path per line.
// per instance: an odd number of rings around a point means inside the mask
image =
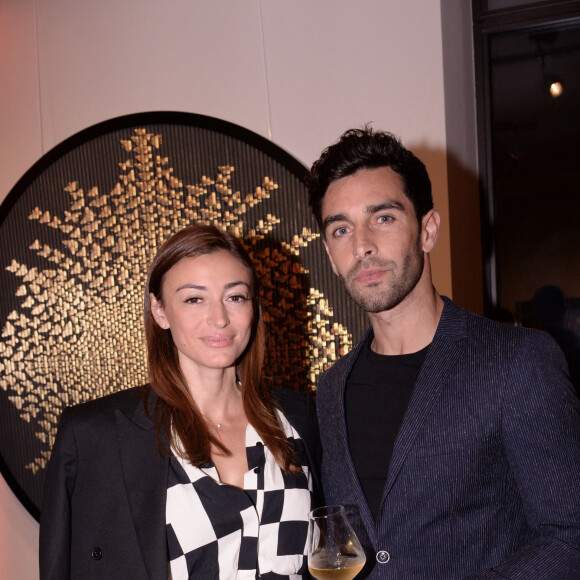
M 151 312 L 171 330 L 186 376 L 235 365 L 254 316 L 251 274 L 242 262 L 225 250 L 183 258 L 166 272 L 161 295 L 150 295 Z

